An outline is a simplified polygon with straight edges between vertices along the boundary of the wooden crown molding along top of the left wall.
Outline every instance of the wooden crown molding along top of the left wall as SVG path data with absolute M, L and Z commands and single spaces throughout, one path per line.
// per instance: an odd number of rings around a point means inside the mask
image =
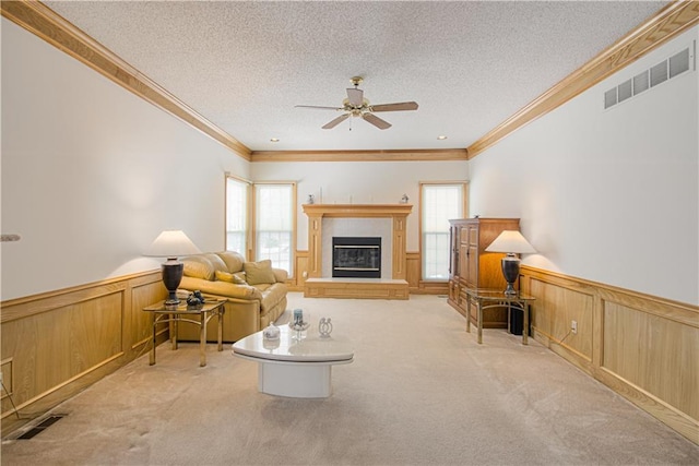
M 102 44 L 35 0 L 0 2 L 2 16 L 75 58 L 121 87 L 214 139 L 246 160 L 250 150 L 187 104 L 143 75 Z

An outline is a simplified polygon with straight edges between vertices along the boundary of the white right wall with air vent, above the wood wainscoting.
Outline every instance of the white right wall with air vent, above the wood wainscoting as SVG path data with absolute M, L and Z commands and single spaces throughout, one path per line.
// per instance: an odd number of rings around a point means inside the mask
M 471 214 L 521 218 L 524 263 L 699 303 L 699 73 L 608 110 L 603 93 L 675 55 L 676 38 L 470 163 Z

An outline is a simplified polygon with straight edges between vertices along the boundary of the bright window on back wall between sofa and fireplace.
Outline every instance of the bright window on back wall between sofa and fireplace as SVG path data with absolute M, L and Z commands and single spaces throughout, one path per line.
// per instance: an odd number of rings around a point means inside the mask
M 295 183 L 254 184 L 254 258 L 293 274 Z

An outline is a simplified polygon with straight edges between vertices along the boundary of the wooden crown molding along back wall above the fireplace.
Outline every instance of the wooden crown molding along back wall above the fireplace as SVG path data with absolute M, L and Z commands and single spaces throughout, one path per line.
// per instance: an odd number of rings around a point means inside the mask
M 391 151 L 253 151 L 250 162 L 437 162 L 467 160 L 465 148 Z

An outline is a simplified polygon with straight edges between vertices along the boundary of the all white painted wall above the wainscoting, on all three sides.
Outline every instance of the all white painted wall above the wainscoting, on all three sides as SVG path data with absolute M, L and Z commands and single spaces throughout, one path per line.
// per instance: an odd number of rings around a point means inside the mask
M 248 164 L 2 19 L 0 299 L 157 267 L 142 251 L 183 229 L 224 247 L 224 172 L 298 181 L 300 204 L 395 203 L 418 182 L 471 179 L 472 215 L 516 216 L 525 263 L 699 302 L 699 80 L 691 71 L 602 109 L 602 93 L 696 39 L 694 28 L 471 163 Z

